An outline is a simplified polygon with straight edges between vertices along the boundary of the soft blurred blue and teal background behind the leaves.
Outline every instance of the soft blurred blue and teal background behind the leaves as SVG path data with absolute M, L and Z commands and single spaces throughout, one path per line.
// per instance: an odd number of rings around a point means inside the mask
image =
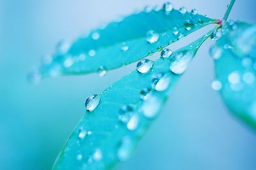
M 162 3 L 0 0 L 1 170 L 50 169 L 84 113 L 84 99 L 134 69 L 133 64 L 110 71 L 104 78 L 65 76 L 29 85 L 26 73 L 40 56 L 51 52 L 60 39 L 74 39 L 102 21 Z M 215 18 L 223 17 L 227 3 L 173 0 L 177 8 L 197 8 Z M 230 18 L 255 23 L 255 6 L 255 0 L 237 0 Z M 179 46 L 185 44 L 188 39 Z M 207 49 L 211 44 L 207 41 L 201 48 L 134 156 L 116 169 L 256 169 L 255 132 L 230 116 L 210 87 L 213 62 Z

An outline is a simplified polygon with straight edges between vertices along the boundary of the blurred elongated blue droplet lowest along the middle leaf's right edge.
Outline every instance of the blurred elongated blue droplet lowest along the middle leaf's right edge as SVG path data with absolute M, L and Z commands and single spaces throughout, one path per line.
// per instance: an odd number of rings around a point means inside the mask
M 119 160 L 124 161 L 129 159 L 132 152 L 131 138 L 129 136 L 125 136 L 122 139 L 120 148 L 117 151 L 117 157 Z

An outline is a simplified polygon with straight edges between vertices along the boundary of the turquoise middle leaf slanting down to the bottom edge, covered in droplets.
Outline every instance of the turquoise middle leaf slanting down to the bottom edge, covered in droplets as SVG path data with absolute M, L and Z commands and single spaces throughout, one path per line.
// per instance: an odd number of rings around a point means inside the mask
M 207 36 L 170 57 L 142 60 L 136 71 L 86 100 L 86 113 L 53 169 L 111 169 L 127 160 L 159 115 L 173 86 Z

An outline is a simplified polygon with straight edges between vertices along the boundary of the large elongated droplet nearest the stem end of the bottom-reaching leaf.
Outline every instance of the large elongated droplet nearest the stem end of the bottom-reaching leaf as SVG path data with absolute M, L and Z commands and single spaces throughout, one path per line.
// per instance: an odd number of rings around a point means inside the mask
M 193 59 L 193 56 L 195 55 L 194 51 L 182 51 L 177 53 L 173 58 L 176 60 L 173 60 L 170 71 L 174 74 L 183 74 L 186 69 L 188 68 L 189 62 Z

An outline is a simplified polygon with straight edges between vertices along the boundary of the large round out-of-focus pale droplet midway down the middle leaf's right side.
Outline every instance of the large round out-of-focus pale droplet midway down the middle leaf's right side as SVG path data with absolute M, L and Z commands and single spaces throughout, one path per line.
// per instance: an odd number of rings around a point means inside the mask
M 141 106 L 141 111 L 145 117 L 154 118 L 159 113 L 160 108 L 161 101 L 156 97 L 149 97 Z

